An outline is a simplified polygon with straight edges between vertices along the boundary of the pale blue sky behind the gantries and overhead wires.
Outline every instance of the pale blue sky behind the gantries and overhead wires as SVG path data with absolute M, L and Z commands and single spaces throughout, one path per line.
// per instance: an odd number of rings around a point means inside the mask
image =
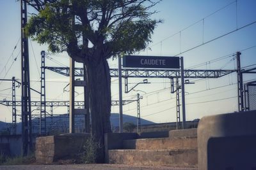
M 226 57 L 227 59 L 218 62 L 212 62 L 212 60 L 241 51 L 242 67 L 256 64 L 255 9 L 256 1 L 254 0 L 163 0 L 156 6 L 159 13 L 153 17 L 161 18 L 164 22 L 154 31 L 152 43 L 149 45 L 151 50 L 147 49 L 136 55 L 182 56 L 185 69 L 236 69 L 236 60 L 232 60 L 233 57 Z M 19 2 L 0 0 L 0 13 L 2 16 L 0 18 L 0 78 L 11 79 L 15 76 L 20 80 Z M 227 34 L 228 32 L 232 33 Z M 223 36 L 225 34 L 227 35 Z M 223 37 L 218 38 L 220 36 Z M 211 41 L 215 38 L 218 39 Z M 208 41 L 211 42 L 207 43 Z M 202 45 L 204 43 L 206 44 Z M 15 48 L 16 44 L 17 48 Z M 198 47 L 189 50 L 195 46 Z M 38 91 L 40 91 L 40 52 L 42 50 L 47 51 L 47 46 L 29 41 L 31 87 Z M 185 52 L 186 50 L 189 51 Z M 65 53 L 50 57 L 59 63 L 47 59 L 46 66 L 60 66 L 60 62 L 62 66 L 69 64 Z M 202 65 L 194 67 L 198 64 Z M 109 60 L 109 65 L 114 68 L 117 67 L 118 62 Z M 255 74 L 244 75 L 244 81 L 255 79 Z M 131 83 L 129 87 L 142 80 L 129 78 Z M 67 77 L 47 70 L 46 81 L 47 101 L 68 100 L 68 92 L 63 93 L 63 88 L 68 83 Z M 118 100 L 118 80 L 112 78 L 111 81 L 112 99 Z M 170 80 L 148 78 L 148 81 L 150 84 L 138 85 L 134 89 L 143 96 L 141 118 L 157 123 L 175 122 L 176 101 L 175 94 L 170 94 Z M 214 80 L 191 79 L 190 81 L 195 81 L 195 84 L 185 86 L 187 120 L 237 111 L 236 73 Z M 12 100 L 11 87 L 11 82 L 0 81 L 0 100 Z M 129 94 L 123 94 L 124 99 L 136 99 L 138 92 L 131 91 Z M 79 100 L 82 92 L 77 89 L 77 93 L 79 96 L 76 99 Z M 31 92 L 31 95 L 31 101 L 40 101 L 38 94 Z M 20 101 L 20 89 L 17 89 L 16 100 Z M 17 109 L 20 110 L 20 108 Z M 136 117 L 136 103 L 124 106 L 123 110 L 124 114 Z M 54 113 L 67 113 L 67 108 L 54 108 Z M 112 113 L 118 113 L 118 107 L 112 107 Z M 38 114 L 38 111 L 33 111 L 33 114 Z M 12 121 L 11 107 L 0 105 L 0 121 Z

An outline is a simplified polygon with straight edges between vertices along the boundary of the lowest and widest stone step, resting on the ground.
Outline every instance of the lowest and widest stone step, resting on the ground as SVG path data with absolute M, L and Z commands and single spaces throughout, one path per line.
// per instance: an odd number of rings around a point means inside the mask
M 109 150 L 109 164 L 197 167 L 197 149 Z

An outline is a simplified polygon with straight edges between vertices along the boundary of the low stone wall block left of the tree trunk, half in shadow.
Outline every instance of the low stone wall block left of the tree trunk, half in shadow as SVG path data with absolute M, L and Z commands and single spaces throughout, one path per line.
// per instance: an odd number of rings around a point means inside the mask
M 90 134 L 61 134 L 36 138 L 36 162 L 51 164 L 60 159 L 74 159 Z

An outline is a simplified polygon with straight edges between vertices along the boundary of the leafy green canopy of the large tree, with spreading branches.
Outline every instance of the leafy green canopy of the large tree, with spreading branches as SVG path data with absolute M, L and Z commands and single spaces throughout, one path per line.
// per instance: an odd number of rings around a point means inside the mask
M 160 0 L 161 1 L 161 0 Z M 143 50 L 157 23 L 151 0 L 33 0 L 38 11 L 26 33 L 51 52 L 67 51 L 78 62 Z

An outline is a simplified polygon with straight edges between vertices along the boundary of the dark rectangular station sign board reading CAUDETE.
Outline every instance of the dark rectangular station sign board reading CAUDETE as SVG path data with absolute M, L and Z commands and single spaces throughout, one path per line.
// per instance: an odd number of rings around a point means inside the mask
M 125 55 L 123 67 L 179 69 L 180 59 L 179 57 Z

